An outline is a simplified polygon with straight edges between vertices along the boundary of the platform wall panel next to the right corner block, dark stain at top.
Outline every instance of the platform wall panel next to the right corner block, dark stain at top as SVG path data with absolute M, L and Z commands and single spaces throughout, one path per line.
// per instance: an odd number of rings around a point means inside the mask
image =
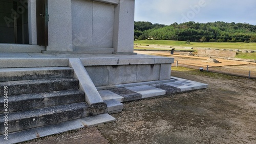
M 159 80 L 160 64 L 145 64 L 137 66 L 136 82 Z

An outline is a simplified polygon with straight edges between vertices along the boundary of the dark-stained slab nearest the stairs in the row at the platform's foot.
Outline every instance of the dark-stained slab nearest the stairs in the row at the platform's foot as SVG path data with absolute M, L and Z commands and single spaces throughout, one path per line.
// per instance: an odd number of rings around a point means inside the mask
M 142 98 L 142 95 L 140 93 L 134 92 L 126 88 L 113 88 L 109 90 L 118 95 L 121 95 L 123 97 L 123 102 L 140 100 Z

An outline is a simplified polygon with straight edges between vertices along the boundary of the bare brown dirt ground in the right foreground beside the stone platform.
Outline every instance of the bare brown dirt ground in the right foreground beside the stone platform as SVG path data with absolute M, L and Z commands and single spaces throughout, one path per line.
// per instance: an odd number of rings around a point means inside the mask
M 172 71 L 207 89 L 124 103 L 117 121 L 24 143 L 256 143 L 256 80 Z

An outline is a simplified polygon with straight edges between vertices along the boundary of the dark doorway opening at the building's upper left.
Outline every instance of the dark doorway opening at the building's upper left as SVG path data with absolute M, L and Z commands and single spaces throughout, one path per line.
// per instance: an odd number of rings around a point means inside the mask
M 0 43 L 29 43 L 28 3 L 0 0 Z

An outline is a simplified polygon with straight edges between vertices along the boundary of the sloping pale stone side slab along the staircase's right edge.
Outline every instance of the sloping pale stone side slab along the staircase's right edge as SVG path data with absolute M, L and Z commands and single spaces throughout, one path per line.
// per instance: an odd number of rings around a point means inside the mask
M 93 84 L 80 59 L 69 59 L 69 66 L 74 69 L 74 78 L 79 80 L 80 89 L 86 94 L 86 102 L 90 105 L 103 103 L 98 90 Z

